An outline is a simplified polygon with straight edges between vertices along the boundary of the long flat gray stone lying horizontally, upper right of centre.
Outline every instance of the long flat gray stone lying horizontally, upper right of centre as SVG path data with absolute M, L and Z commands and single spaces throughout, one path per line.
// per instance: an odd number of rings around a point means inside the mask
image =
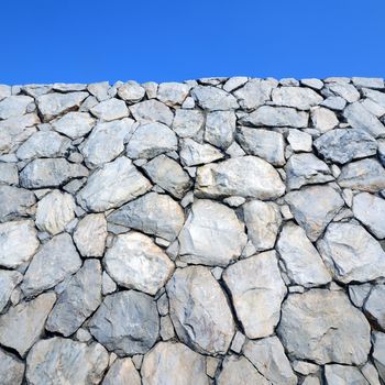
M 262 106 L 240 120 L 248 125 L 306 128 L 309 114 L 288 107 Z

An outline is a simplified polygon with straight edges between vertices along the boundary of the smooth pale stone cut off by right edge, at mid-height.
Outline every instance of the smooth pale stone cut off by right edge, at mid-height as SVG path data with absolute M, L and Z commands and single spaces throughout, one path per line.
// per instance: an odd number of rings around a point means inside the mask
M 353 197 L 353 213 L 378 239 L 385 238 L 385 200 L 369 193 Z

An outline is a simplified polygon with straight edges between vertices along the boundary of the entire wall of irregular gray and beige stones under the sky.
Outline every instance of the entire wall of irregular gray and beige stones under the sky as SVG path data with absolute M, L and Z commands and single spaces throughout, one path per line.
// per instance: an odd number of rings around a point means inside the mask
M 385 86 L 0 86 L 0 383 L 384 384 Z

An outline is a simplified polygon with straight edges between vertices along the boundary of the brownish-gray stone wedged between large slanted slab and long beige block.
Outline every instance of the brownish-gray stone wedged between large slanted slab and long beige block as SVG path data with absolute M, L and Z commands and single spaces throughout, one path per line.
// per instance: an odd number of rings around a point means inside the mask
M 193 182 L 179 163 L 165 155 L 158 155 L 143 166 L 150 179 L 182 199 L 189 190 Z

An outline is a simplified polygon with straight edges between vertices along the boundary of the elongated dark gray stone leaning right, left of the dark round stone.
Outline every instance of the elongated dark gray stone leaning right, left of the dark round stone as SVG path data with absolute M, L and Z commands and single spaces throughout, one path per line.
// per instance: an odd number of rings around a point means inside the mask
M 85 261 L 69 279 L 52 309 L 46 329 L 68 337 L 101 302 L 101 266 L 97 260 Z

